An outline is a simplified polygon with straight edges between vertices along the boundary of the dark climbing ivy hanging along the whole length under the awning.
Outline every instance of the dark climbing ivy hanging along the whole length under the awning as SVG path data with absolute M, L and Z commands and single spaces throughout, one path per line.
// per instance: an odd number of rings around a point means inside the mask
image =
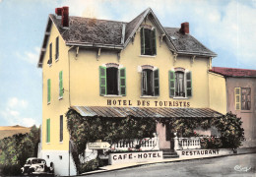
M 125 118 L 115 117 L 83 117 L 74 109 L 66 113 L 68 131 L 71 141 L 76 147 L 72 152 L 79 172 L 81 165 L 79 156 L 84 154 L 88 143 L 97 140 L 108 142 L 110 145 L 133 139 L 153 138 L 156 133 L 157 122 L 168 125 L 171 132 L 177 132 L 178 137 L 194 137 L 194 130 L 198 127 L 209 129 L 215 126 L 222 137 L 215 141 L 223 148 L 238 148 L 244 141 L 244 130 L 241 127 L 241 118 L 232 113 L 226 113 L 219 118 Z M 215 145 L 213 145 L 215 146 Z

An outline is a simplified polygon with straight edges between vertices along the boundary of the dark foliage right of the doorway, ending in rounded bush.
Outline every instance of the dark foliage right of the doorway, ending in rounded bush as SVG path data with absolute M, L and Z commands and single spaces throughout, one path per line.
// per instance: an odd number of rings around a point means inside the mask
M 178 137 L 195 137 L 194 130 L 198 127 L 203 129 L 215 126 L 221 133 L 221 142 L 204 141 L 203 147 L 219 147 L 219 148 L 238 148 L 244 141 L 244 130 L 241 127 L 241 118 L 231 112 L 226 113 L 222 117 L 203 119 L 203 118 L 174 118 L 174 119 L 158 119 L 162 124 L 169 124 L 171 132 L 177 132 Z M 198 135 L 197 135 L 198 136 Z M 208 139 L 208 138 L 206 138 Z

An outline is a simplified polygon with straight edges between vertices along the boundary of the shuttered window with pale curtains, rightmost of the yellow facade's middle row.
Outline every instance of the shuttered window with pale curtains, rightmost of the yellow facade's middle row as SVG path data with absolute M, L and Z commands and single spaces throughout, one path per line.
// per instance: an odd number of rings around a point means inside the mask
M 177 68 L 175 71 L 169 71 L 169 96 L 192 96 L 191 72 L 185 72 L 182 68 Z

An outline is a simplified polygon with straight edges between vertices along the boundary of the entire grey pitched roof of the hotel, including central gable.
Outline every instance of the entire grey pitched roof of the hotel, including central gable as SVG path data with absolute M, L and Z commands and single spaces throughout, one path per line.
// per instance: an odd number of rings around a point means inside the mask
M 68 29 L 62 27 L 61 19 L 50 14 L 37 66 L 42 66 L 42 59 L 46 51 L 52 24 L 59 30 L 66 45 L 122 50 L 127 46 L 146 17 L 153 22 L 162 36 L 167 36 L 163 37 L 163 40 L 170 51 L 178 54 L 217 56 L 216 53 L 206 48 L 192 35 L 182 34 L 175 28 L 163 28 L 152 9 L 148 8 L 129 23 L 70 16 Z M 176 39 L 172 39 L 171 36 L 175 36 Z

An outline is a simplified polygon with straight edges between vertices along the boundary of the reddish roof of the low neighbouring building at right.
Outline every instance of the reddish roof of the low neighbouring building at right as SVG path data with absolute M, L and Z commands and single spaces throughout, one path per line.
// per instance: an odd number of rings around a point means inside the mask
M 225 77 L 253 77 L 253 78 L 256 78 L 256 70 L 213 67 L 212 70 L 210 70 L 210 71 L 213 73 L 223 75 Z

